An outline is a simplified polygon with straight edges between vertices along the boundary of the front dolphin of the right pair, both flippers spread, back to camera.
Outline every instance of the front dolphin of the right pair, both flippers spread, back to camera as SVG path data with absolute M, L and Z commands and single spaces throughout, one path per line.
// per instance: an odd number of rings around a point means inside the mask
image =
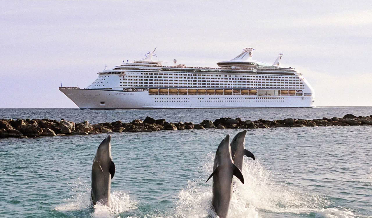
M 230 135 L 226 135 L 218 145 L 213 173 L 206 181 L 208 182 L 213 176 L 212 207 L 220 218 L 227 218 L 232 193 L 232 177 L 236 176 L 244 184 L 243 174 L 232 162 L 229 142 Z

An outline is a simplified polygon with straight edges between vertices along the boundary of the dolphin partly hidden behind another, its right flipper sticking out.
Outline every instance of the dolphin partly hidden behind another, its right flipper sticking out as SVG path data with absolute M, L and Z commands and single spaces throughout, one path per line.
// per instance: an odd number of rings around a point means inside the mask
M 231 141 L 231 157 L 234 161 L 235 166 L 239 168 L 240 171 L 243 170 L 243 157 L 244 155 L 247 157 L 254 158 L 254 155 L 244 148 L 245 138 L 246 138 L 247 130 L 243 132 L 239 132 L 235 135 L 235 137 Z

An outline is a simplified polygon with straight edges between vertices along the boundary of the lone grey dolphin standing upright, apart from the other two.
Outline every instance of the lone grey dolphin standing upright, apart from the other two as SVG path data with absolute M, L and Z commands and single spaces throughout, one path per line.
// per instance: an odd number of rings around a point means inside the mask
M 115 164 L 111 157 L 111 135 L 105 138 L 97 149 L 92 166 L 92 201 L 110 206 L 111 179 Z

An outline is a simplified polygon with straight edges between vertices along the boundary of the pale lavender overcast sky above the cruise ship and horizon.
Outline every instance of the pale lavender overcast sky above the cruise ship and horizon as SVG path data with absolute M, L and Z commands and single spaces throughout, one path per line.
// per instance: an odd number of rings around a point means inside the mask
M 372 1 L 0 1 L 0 108 L 77 107 L 104 65 L 216 67 L 244 47 L 295 67 L 317 106 L 372 106 Z

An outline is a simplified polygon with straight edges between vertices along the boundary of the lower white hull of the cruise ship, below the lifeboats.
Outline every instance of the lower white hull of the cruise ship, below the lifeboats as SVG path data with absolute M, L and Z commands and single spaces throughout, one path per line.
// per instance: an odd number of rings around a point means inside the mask
M 150 95 L 118 90 L 60 89 L 80 109 L 312 108 L 312 96 Z

